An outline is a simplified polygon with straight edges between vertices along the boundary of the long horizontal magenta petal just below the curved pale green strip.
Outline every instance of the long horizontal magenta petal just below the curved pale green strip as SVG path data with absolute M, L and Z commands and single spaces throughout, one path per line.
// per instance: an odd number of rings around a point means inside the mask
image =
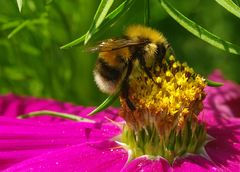
M 45 123 L 0 117 L 0 170 L 46 152 L 111 139 L 119 133 L 113 124 Z

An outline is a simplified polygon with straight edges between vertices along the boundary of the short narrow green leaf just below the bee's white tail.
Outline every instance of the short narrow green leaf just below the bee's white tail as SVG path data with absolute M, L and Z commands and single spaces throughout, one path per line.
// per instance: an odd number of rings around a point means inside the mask
M 93 116 L 98 112 L 103 111 L 104 109 L 108 108 L 113 102 L 118 98 L 120 94 L 120 89 L 113 95 L 109 96 L 106 100 L 104 100 L 96 109 L 90 112 L 87 116 Z

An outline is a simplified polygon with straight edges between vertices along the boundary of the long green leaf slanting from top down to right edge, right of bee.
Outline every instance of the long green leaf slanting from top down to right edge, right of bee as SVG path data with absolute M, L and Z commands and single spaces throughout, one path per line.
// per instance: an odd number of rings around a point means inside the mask
M 173 6 L 167 3 L 165 0 L 159 0 L 163 9 L 181 26 L 191 32 L 193 35 L 202 39 L 203 41 L 232 54 L 240 54 L 240 47 L 231 42 L 225 41 L 222 38 L 214 35 L 202 26 L 188 19 L 182 13 L 177 11 Z

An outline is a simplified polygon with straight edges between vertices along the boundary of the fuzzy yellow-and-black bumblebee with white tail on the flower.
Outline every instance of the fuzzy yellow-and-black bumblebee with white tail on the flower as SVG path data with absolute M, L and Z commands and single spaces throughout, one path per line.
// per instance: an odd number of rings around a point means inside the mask
M 99 52 L 93 72 L 97 86 L 110 95 L 120 88 L 129 108 L 135 110 L 128 97 L 132 72 L 140 67 L 152 78 L 150 70 L 161 63 L 169 48 L 160 32 L 141 25 L 129 26 L 122 38 L 107 39 L 92 47 L 91 51 Z

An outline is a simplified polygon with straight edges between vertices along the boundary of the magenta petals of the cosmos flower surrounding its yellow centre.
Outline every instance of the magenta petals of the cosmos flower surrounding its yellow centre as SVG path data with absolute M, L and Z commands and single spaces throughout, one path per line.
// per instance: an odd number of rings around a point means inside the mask
M 211 79 L 218 72 L 214 72 Z M 240 171 L 239 86 L 230 81 L 222 88 L 206 88 L 208 98 L 199 119 L 214 140 L 205 146 L 209 159 L 189 155 L 170 165 L 163 158 L 141 156 L 128 162 L 128 152 L 114 137 L 121 129 L 118 109 L 94 117 L 95 123 L 55 117 L 17 119 L 38 110 L 52 110 L 86 117 L 93 108 L 54 100 L 0 96 L 0 170 L 2 171 Z

